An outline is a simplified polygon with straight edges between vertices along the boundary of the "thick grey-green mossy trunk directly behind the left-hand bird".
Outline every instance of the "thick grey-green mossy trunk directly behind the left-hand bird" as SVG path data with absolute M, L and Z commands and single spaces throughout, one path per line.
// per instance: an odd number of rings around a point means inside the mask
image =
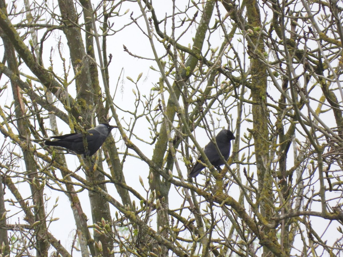
M 94 67 L 92 66 L 93 64 L 91 63 L 90 58 L 86 55 L 81 29 L 78 26 L 73 25 L 73 23 L 78 23 L 78 15 L 74 8 L 73 1 L 59 0 L 58 4 L 61 15 L 64 18 L 64 22 L 68 25 L 64 27 L 63 32 L 67 38 L 71 62 L 76 75 L 75 84 L 76 91 L 78 92 L 76 95 L 76 102 L 81 110 L 81 116 L 83 118 L 82 121 L 86 124 L 87 128 L 90 128 L 92 124 L 95 125 L 95 120 L 93 117 L 95 94 L 93 93 L 95 90 L 99 89 L 98 80 L 93 78 L 92 81 L 91 72 L 93 73 L 92 75 L 94 75 Z M 96 84 L 96 86 L 94 86 L 94 84 Z M 96 93 L 98 93 L 98 91 Z M 103 169 L 102 162 L 98 162 L 97 165 L 94 166 L 91 161 L 86 159 L 84 159 L 84 161 L 87 166 L 84 167 L 87 180 L 92 182 L 94 185 L 100 184 L 99 187 L 107 192 L 106 185 L 101 184 L 101 181 L 105 180 L 104 175 L 100 173 L 97 168 L 93 169 L 94 167 Z M 111 216 L 108 202 L 95 192 L 88 191 L 88 195 L 90 198 L 93 223 L 101 222 L 102 218 L 110 221 Z M 102 254 L 104 256 L 109 256 L 107 247 L 110 250 L 112 249 L 113 240 L 110 237 L 106 237 L 105 235 L 98 233 L 94 234 L 94 240 L 95 242 L 102 242 L 102 245 L 104 246 L 104 251 Z

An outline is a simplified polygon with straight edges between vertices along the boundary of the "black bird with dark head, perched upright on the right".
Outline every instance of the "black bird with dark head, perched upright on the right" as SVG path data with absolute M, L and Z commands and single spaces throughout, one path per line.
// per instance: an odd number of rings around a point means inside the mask
M 235 139 L 235 136 L 229 130 L 222 130 L 215 137 L 215 142 L 217 143 L 218 149 L 220 150 L 225 160 L 229 158 L 231 148 L 230 141 L 232 139 Z M 220 166 L 224 165 L 224 162 L 220 159 L 219 154 L 212 141 L 205 146 L 204 152 L 211 164 L 217 169 L 220 169 Z M 198 160 L 204 162 L 204 158 L 202 156 L 199 156 Z M 196 177 L 203 168 L 204 166 L 197 161 L 189 172 L 188 178 Z

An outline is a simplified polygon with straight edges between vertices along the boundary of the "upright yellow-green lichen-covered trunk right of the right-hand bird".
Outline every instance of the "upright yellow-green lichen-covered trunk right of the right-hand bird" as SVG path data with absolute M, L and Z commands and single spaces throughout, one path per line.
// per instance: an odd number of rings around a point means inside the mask
M 248 26 L 253 30 L 255 27 L 262 27 L 261 15 L 256 0 L 246 1 Z M 256 33 L 256 32 L 255 32 Z M 267 102 L 267 69 L 263 65 L 258 54 L 264 53 L 264 42 L 259 38 L 259 34 L 249 34 L 251 43 L 248 41 L 248 53 L 251 57 L 251 96 L 253 115 L 253 131 L 252 135 L 255 144 L 256 168 L 259 181 L 259 206 L 262 216 L 267 220 L 273 215 L 273 194 L 272 174 L 269 163 L 269 130 L 268 130 L 268 110 L 265 103 Z M 271 238 L 276 238 L 275 230 L 265 228 L 265 233 Z M 263 247 L 263 256 L 270 256 L 268 247 Z

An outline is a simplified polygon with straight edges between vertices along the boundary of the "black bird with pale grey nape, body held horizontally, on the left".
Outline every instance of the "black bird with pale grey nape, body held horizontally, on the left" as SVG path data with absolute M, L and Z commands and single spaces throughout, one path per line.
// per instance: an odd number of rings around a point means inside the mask
M 82 133 L 71 133 L 62 136 L 52 136 L 52 138 L 57 138 L 56 141 L 45 141 L 46 145 L 61 146 L 72 150 L 76 154 L 84 154 L 92 156 L 95 152 L 103 145 L 105 139 L 108 137 L 109 133 L 113 128 L 117 126 L 111 126 L 107 123 L 99 124 L 94 129 L 87 130 L 89 133 L 86 135 L 88 143 L 88 152 L 85 152 L 82 141 Z

